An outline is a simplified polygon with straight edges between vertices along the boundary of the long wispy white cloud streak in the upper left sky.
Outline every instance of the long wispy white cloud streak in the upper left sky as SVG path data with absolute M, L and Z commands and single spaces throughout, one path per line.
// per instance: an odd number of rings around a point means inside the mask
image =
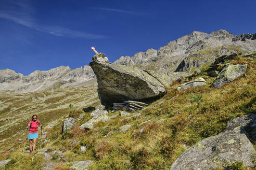
M 32 16 L 33 8 L 28 3 L 8 1 L 7 4 L 0 8 L 0 18 L 27 26 L 37 31 L 52 34 L 54 36 L 86 39 L 106 38 L 106 36 L 103 35 L 70 30 L 66 27 L 40 24 L 37 23 Z

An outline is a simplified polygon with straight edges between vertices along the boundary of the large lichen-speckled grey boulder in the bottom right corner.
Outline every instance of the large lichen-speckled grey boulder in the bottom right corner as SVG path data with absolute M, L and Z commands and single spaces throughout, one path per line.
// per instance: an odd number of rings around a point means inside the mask
M 250 141 L 255 139 L 255 124 L 256 114 L 229 121 L 222 133 L 202 139 L 185 150 L 171 170 L 216 169 L 236 161 L 242 161 L 244 166 L 256 167 L 253 162 L 256 152 Z

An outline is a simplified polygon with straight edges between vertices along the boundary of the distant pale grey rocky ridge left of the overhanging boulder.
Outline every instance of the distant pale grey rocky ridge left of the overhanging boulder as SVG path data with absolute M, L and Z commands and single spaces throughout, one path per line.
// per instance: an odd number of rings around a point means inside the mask
M 0 91 L 7 93 L 27 93 L 58 88 L 80 87 L 86 81 L 95 78 L 93 70 L 88 65 L 83 68 L 71 69 L 60 66 L 48 71 L 36 70 L 28 76 L 15 73 L 14 70 L 0 70 Z

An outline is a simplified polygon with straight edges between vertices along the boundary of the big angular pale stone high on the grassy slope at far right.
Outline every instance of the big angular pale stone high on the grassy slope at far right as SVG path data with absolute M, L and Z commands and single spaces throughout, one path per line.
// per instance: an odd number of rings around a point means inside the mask
M 220 88 L 223 84 L 235 80 L 237 77 L 245 74 L 247 69 L 247 64 L 229 64 L 226 65 L 222 70 L 220 75 L 212 83 L 212 87 Z

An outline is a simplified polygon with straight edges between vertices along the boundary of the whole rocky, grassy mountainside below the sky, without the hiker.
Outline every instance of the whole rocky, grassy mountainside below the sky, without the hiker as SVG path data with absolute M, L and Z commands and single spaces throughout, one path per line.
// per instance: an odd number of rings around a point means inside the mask
M 255 35 L 193 32 L 112 64 L 98 53 L 75 70 L 1 70 L 0 169 L 255 169 Z M 30 154 L 34 113 L 45 126 Z

